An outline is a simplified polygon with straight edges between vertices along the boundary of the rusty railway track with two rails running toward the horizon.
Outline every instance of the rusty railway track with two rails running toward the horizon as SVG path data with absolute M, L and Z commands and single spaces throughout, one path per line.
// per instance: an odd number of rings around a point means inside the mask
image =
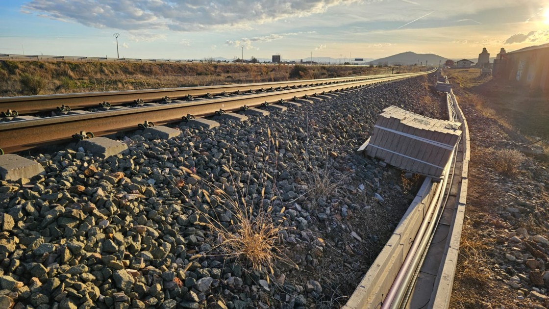
M 0 122 L 0 148 L 4 153 L 27 150 L 33 147 L 49 145 L 54 142 L 70 141 L 76 133 L 91 132 L 94 136 L 114 134 L 120 131 L 137 129 L 140 124 L 167 124 L 181 122 L 183 119 L 200 118 L 216 113 L 240 111 L 253 107 L 266 106 L 271 103 L 283 103 L 299 100 L 307 96 L 318 96 L 354 87 L 372 86 L 384 82 L 410 78 L 425 73 L 399 74 L 391 76 L 372 76 L 340 78 L 329 80 L 276 82 L 274 84 L 246 84 L 212 87 L 192 87 L 191 89 L 160 89 L 148 91 L 120 91 L 83 93 L 80 95 L 54 95 L 3 98 L 0 107 L 5 110 L 4 122 Z M 307 85 L 307 86 L 305 86 Z M 261 89 L 270 86 L 272 90 L 242 91 L 238 95 L 219 94 L 227 90 Z M 276 86 L 276 88 L 275 88 Z M 207 98 L 201 100 L 171 100 L 171 97 L 190 99 L 192 93 L 210 91 Z M 218 96 L 212 96 L 216 93 Z M 170 98 L 167 98 L 171 96 Z M 139 98 L 139 100 L 137 100 Z M 145 98 L 145 99 L 142 99 Z M 147 103 L 165 98 L 160 103 Z M 109 106 L 101 106 L 102 101 L 110 100 Z M 98 103 L 99 102 L 99 103 Z M 130 103 L 131 107 L 113 104 Z M 65 110 L 53 117 L 38 118 L 31 113 L 51 112 L 52 108 L 61 106 L 97 106 L 96 112 L 77 112 Z M 106 104 L 103 104 L 106 105 Z M 10 107 L 13 108 L 10 111 Z M 18 109 L 15 109 L 18 108 Z M 14 111 L 22 112 L 14 112 Z M 21 116 L 23 114 L 23 116 Z

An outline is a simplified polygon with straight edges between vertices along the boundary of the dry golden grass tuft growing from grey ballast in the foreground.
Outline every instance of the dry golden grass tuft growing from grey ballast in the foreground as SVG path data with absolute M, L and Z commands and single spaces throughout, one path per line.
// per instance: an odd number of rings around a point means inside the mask
M 271 138 L 269 129 L 267 129 L 267 134 L 270 144 L 278 145 L 277 141 Z M 265 162 L 263 162 L 264 167 L 268 162 L 269 156 L 266 156 Z M 231 179 L 232 187 L 236 192 L 236 195 L 231 196 L 209 180 L 201 178 L 196 174 L 195 169 L 181 168 L 192 178 L 204 184 L 203 189 L 197 195 L 198 203 L 194 205 L 194 210 L 200 218 L 199 222 L 195 224 L 210 230 L 211 251 L 217 251 L 226 258 L 236 258 L 237 261 L 243 261 L 254 270 L 265 274 L 275 274 L 273 268 L 276 261 L 282 261 L 289 266 L 299 268 L 282 252 L 284 240 L 281 235 L 284 230 L 293 228 L 283 226 L 284 220 L 287 219 L 284 217 L 285 207 L 274 208 L 272 206 L 272 202 L 277 198 L 274 188 L 269 195 L 265 194 L 266 186 L 264 185 L 259 194 L 247 191 L 248 196 L 244 196 L 233 177 L 238 172 L 230 169 L 227 165 L 222 165 L 221 169 L 230 175 L 229 179 Z M 184 181 L 176 179 L 172 184 L 179 188 L 184 185 Z M 259 186 L 259 184 L 257 185 Z M 249 197 L 251 197 L 251 201 Z M 198 204 L 200 205 L 198 206 Z M 265 277 L 267 282 L 270 282 L 269 275 Z

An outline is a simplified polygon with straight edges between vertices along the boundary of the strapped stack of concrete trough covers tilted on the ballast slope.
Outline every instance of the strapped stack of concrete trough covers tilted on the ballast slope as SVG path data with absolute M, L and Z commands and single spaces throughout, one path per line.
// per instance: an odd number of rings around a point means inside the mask
M 359 149 L 408 172 L 440 179 L 461 136 L 461 123 L 424 117 L 396 106 L 383 110 Z

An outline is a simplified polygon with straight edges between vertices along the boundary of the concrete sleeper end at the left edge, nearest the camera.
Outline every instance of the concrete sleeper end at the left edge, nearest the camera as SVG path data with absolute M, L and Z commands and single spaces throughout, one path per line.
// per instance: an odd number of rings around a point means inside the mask
M 42 164 L 17 154 L 4 154 L 0 156 L 0 179 L 19 180 L 31 179 L 38 175 L 46 174 Z

